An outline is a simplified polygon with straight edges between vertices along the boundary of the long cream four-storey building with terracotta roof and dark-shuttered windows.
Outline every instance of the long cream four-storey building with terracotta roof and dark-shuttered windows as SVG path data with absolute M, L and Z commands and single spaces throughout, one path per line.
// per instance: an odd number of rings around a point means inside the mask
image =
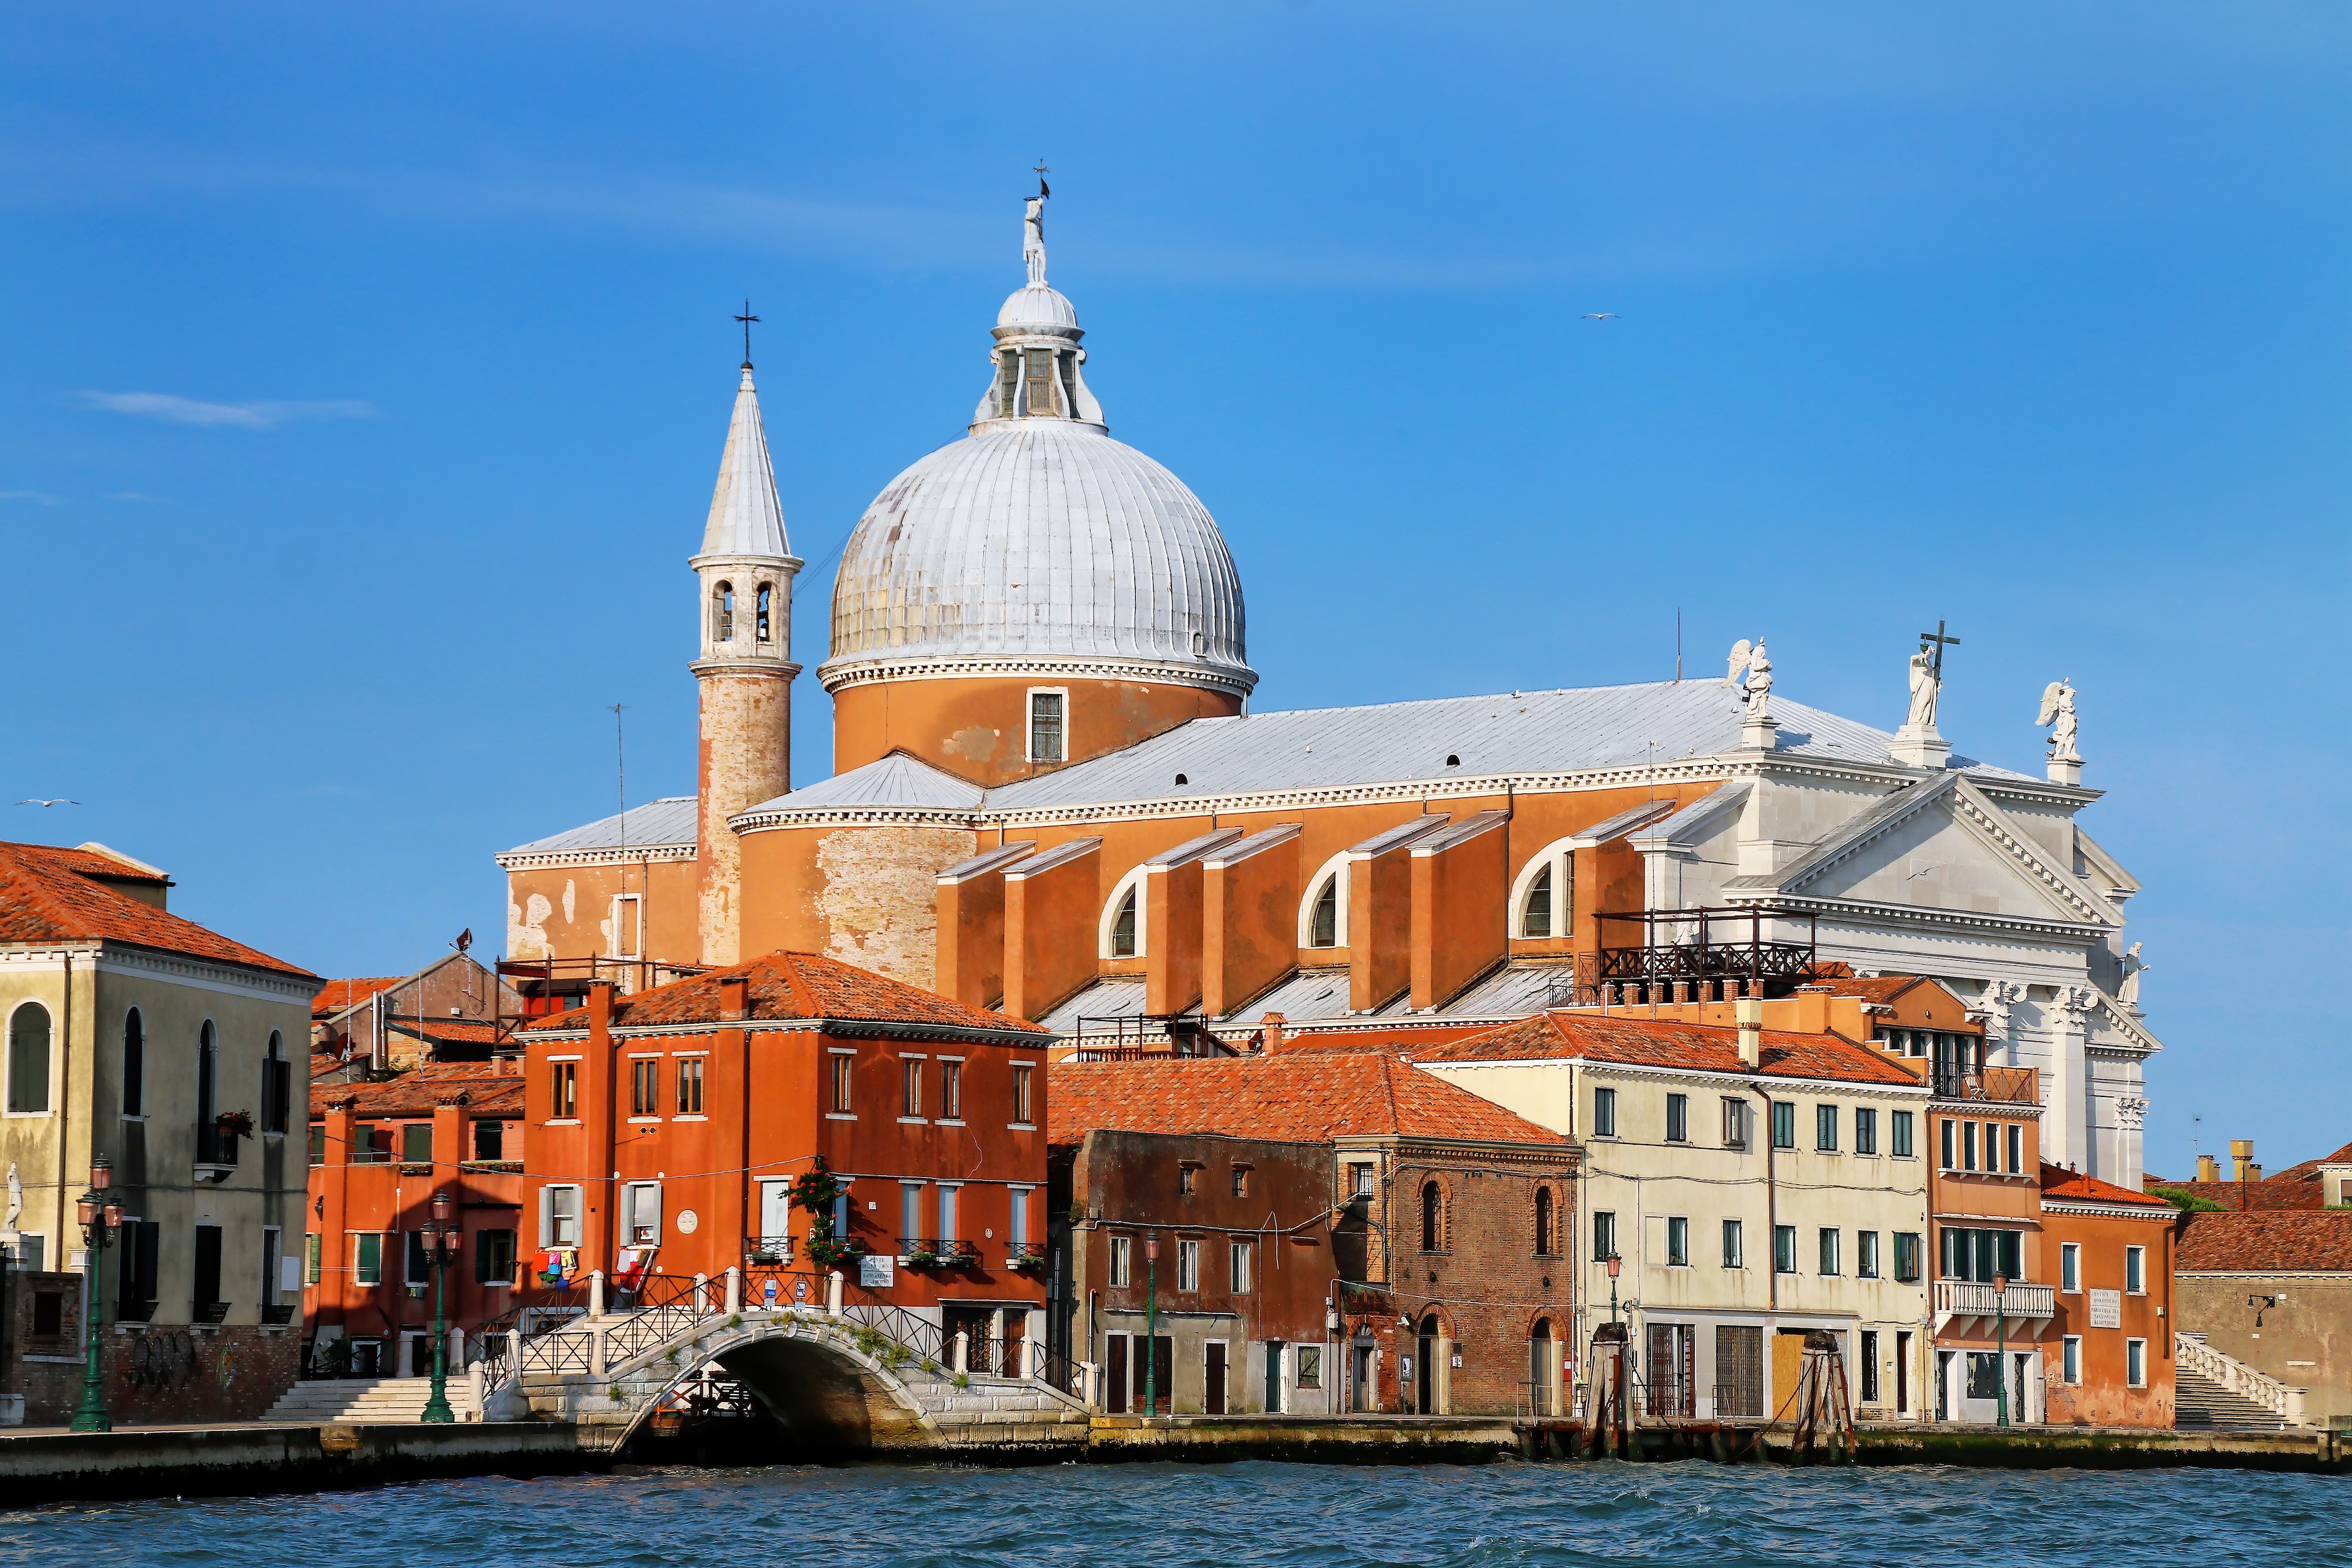
M 1929 1088 L 1828 1032 L 1832 1001 L 1548 1011 L 1411 1053 L 1583 1145 L 1576 1347 L 1613 1295 L 1644 1415 L 1778 1413 L 1809 1328 L 1839 1335 L 1856 1415 L 1922 1415 Z

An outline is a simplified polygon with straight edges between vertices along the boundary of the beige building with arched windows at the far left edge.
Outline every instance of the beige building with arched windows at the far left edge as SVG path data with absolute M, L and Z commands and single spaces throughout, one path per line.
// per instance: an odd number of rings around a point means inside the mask
M 75 1199 L 111 1161 L 118 1422 L 261 1415 L 301 1356 L 318 978 L 172 914 L 169 886 L 101 844 L 0 844 L 0 1246 L 80 1272 Z M 33 1394 L 26 1420 L 64 1418 Z

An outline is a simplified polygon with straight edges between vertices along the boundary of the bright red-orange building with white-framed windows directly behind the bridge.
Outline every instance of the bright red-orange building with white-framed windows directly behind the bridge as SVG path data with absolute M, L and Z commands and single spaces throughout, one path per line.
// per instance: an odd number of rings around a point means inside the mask
M 628 997 L 597 983 L 515 1039 L 541 1279 L 652 1293 L 743 1267 L 753 1298 L 823 1300 L 840 1269 L 851 1300 L 1009 1363 L 1042 1335 L 1040 1025 L 771 952 Z

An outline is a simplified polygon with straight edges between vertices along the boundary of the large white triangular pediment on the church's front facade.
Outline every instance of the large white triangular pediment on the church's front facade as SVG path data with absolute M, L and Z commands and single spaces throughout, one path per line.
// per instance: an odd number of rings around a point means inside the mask
M 1959 773 L 1875 802 L 1795 863 L 1738 877 L 1729 891 L 2124 924 L 2122 910 L 2058 865 Z

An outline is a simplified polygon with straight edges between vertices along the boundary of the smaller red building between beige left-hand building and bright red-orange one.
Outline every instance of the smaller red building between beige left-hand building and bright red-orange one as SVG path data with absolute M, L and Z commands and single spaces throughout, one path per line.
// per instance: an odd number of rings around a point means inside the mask
M 383 1084 L 322 1086 L 313 1112 L 313 1368 L 421 1378 L 433 1371 L 433 1293 L 419 1229 L 435 1192 L 449 1192 L 466 1232 L 442 1281 L 449 1326 L 470 1335 L 522 1300 L 520 1067 L 428 1063 Z

